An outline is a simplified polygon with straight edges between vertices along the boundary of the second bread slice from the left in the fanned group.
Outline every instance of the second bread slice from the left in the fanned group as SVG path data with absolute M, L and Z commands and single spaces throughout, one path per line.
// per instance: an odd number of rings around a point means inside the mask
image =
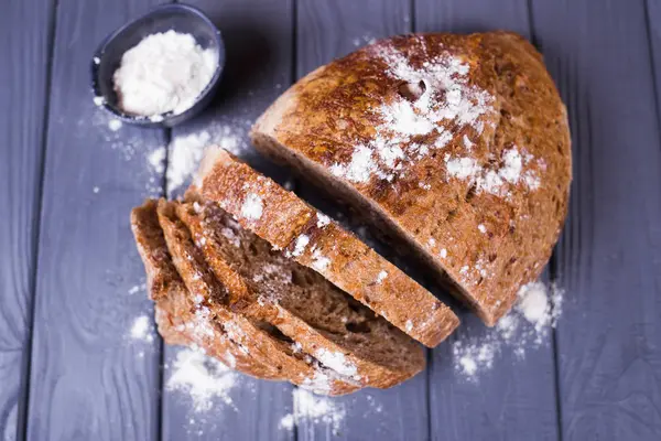
M 332 396 L 361 387 L 358 381 L 322 366 L 271 323 L 231 312 L 225 304 L 230 290 L 214 277 L 187 228 L 176 216 L 175 203 L 161 200 L 158 214 L 173 263 L 193 293 L 196 316 L 204 318 L 205 322 L 219 323 L 249 359 L 278 373 L 277 377 L 271 378 L 289 379 L 314 392 Z

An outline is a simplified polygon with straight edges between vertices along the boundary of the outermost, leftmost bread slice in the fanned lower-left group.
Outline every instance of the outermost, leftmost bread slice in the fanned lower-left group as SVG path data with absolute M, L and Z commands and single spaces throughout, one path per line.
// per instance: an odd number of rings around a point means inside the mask
M 156 303 L 159 333 L 167 344 L 198 346 L 229 367 L 258 378 L 285 378 L 273 365 L 251 357 L 246 346 L 232 341 L 209 314 L 201 313 L 172 263 L 155 201 L 133 208 L 131 227 L 148 275 L 149 293 Z

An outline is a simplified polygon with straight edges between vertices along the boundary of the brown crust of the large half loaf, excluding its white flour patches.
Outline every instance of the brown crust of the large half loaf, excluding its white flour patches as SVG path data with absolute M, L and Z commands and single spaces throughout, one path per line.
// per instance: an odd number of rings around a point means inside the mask
M 384 47 L 401 51 L 418 67 L 441 54 L 460 58 L 470 67 L 468 84 L 495 98 L 494 111 L 480 117 L 481 133 L 443 122 L 453 139 L 442 154 L 411 163 L 405 176 L 392 183 L 378 176 L 358 183 L 333 178 L 333 164 L 346 163 L 358 142 L 373 138 L 381 121 L 370 109 L 398 94 L 400 83 L 378 55 Z M 544 162 L 535 169 L 541 187 L 512 185 L 511 197 L 505 198 L 475 193 L 472 183 L 453 179 L 444 154 L 464 154 L 464 136 L 473 140 L 480 166 L 501 161 L 512 146 L 524 147 Z M 252 137 L 261 151 L 330 183 L 362 211 L 369 208 L 388 235 L 404 237 L 448 275 L 489 325 L 510 310 L 522 284 L 539 277 L 567 211 L 572 165 L 565 107 L 540 54 L 513 33 L 418 34 L 377 42 L 296 83 L 261 116 Z M 443 248 L 446 258 L 440 257 Z

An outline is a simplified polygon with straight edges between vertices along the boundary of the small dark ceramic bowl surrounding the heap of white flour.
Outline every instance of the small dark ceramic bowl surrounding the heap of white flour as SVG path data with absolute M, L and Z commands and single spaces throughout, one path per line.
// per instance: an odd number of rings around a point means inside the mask
M 121 57 L 142 39 L 158 32 L 174 30 L 195 37 L 203 49 L 214 49 L 218 53 L 218 68 L 195 104 L 187 110 L 174 115 L 172 111 L 161 115 L 155 121 L 149 117 L 129 115 L 118 106 L 112 75 L 120 66 Z M 95 103 L 123 122 L 143 127 L 173 127 L 199 114 L 210 101 L 218 88 L 220 73 L 225 65 L 225 46 L 220 31 L 197 8 L 175 3 L 158 7 L 147 15 L 139 18 L 115 31 L 101 43 L 91 60 L 91 89 Z

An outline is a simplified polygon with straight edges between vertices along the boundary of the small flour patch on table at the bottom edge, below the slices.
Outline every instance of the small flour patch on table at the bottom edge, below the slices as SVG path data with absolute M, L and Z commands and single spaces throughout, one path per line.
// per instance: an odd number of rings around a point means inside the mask
M 338 432 L 346 418 L 346 409 L 340 401 L 316 396 L 305 389 L 294 389 L 294 411 L 280 420 L 280 428 L 293 430 L 305 422 L 323 423 Z

